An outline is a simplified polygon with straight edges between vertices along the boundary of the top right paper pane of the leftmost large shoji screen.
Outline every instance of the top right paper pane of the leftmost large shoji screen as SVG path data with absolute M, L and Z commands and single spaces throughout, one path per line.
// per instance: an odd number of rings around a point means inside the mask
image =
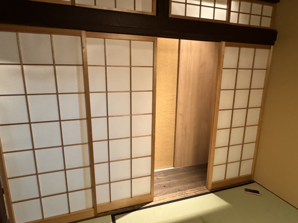
M 80 36 L 53 35 L 56 64 L 83 64 Z

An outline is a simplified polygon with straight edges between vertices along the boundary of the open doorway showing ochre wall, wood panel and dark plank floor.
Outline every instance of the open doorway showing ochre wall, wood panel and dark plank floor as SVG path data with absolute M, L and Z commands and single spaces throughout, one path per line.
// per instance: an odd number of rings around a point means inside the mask
M 219 49 L 158 38 L 154 203 L 208 191 Z

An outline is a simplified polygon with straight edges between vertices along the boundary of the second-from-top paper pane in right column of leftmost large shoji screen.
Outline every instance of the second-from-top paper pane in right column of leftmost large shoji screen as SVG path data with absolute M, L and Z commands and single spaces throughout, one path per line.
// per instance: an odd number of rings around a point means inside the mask
M 85 92 L 82 66 L 56 66 L 59 93 Z

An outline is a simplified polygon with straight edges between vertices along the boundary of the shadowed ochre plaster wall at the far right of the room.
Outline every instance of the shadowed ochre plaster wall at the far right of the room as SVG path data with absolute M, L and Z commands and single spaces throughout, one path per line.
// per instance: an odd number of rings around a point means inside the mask
M 254 180 L 298 208 L 298 1 L 277 4 L 271 71 Z

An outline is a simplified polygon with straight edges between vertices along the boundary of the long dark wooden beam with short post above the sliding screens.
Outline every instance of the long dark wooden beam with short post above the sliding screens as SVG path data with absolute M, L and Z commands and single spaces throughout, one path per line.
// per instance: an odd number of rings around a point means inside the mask
M 0 1 L 0 8 L 0 23 L 9 24 L 263 45 L 277 38 L 271 29 L 169 18 L 167 0 L 157 0 L 156 16 L 27 0 Z

